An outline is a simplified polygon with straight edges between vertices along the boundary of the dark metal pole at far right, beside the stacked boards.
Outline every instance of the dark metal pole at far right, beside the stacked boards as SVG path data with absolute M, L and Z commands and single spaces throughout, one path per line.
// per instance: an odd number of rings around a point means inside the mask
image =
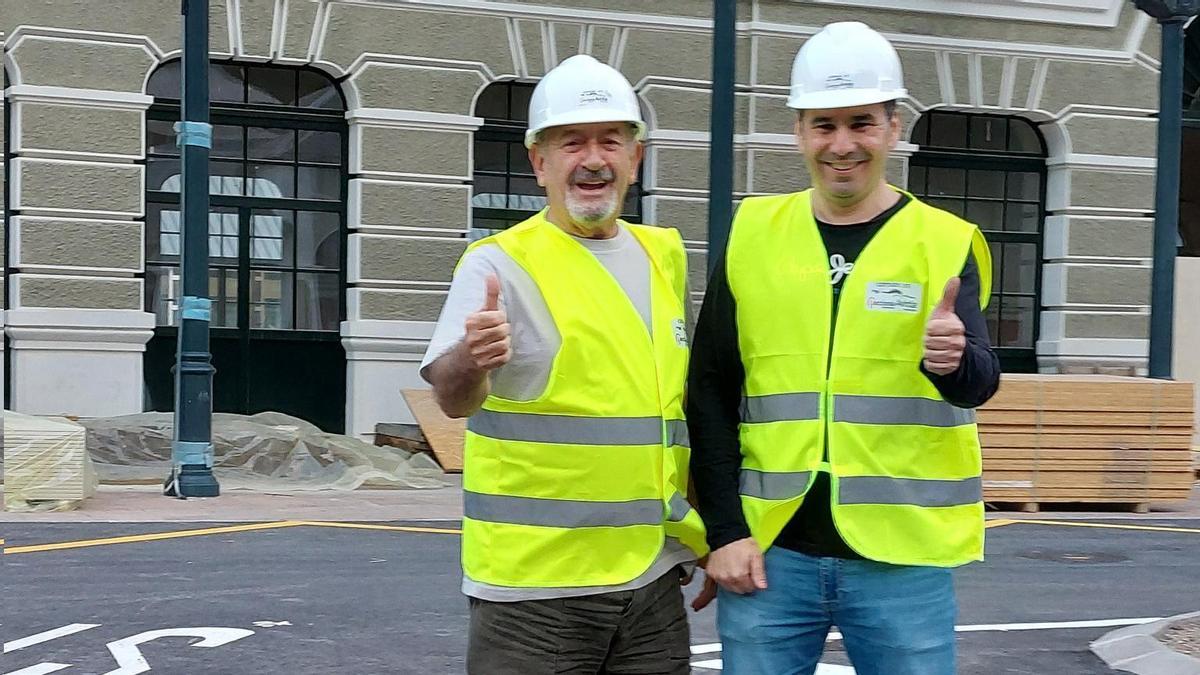
M 1163 19 L 1154 261 L 1150 299 L 1150 376 L 1171 377 L 1175 333 L 1175 246 L 1180 232 L 1180 153 L 1183 142 L 1183 17 Z

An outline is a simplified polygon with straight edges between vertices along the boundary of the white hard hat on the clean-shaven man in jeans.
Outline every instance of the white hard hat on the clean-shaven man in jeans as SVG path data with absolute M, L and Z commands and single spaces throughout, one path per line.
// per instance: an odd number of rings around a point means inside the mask
M 787 107 L 852 108 L 907 95 L 892 43 L 866 24 L 841 22 L 821 29 L 796 54 Z

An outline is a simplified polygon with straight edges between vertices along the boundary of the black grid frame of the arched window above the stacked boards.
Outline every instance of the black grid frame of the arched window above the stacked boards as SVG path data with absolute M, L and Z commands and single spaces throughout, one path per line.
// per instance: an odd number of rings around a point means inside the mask
M 964 119 L 965 121 L 966 133 L 962 136 L 962 141 L 959 144 L 960 147 L 932 145 L 930 139 L 935 124 L 942 120 L 952 119 Z M 972 121 L 985 119 L 1004 120 L 1006 138 L 1003 149 L 979 149 L 979 143 L 974 143 L 972 135 L 974 133 L 976 125 L 972 124 Z M 1014 125 L 1027 125 L 1028 130 L 1033 132 L 1032 138 L 1038 141 L 1038 148 L 1036 150 L 1031 149 L 1015 151 L 1010 149 L 1013 145 Z M 1000 357 L 1003 371 L 1037 372 L 1037 344 L 1042 330 L 1042 276 L 1046 219 L 1046 179 L 1049 174 L 1046 167 L 1048 149 L 1045 138 L 1042 136 L 1040 131 L 1038 131 L 1036 124 L 1015 115 L 964 113 L 956 110 L 930 110 L 922 115 L 922 118 L 913 126 L 911 142 L 917 144 L 919 149 L 908 160 L 908 191 L 917 197 L 920 197 L 923 201 L 937 201 L 941 198 L 938 195 L 929 193 L 929 169 L 931 168 L 964 169 L 964 196 L 948 197 L 947 199 L 961 199 L 964 204 L 966 204 L 968 199 L 979 202 L 997 202 L 1003 204 L 1004 211 L 1002 213 L 1007 213 L 1008 204 L 1028 205 L 1034 203 L 1032 199 L 1012 198 L 1009 196 L 1008 175 L 1028 173 L 1038 175 L 1038 199 L 1036 202 L 1038 207 L 1038 228 L 1034 232 L 1003 229 L 1003 221 L 1001 222 L 1000 228 L 992 228 L 989 223 L 976 223 L 983 232 L 984 238 L 988 239 L 988 243 L 998 245 L 1002 252 L 1006 249 L 1006 244 L 1034 246 L 1036 262 L 1033 289 L 1030 293 L 1006 291 L 1003 261 L 992 261 L 992 293 L 989 300 L 988 313 L 994 311 L 996 315 L 997 334 L 990 335 L 990 338 L 992 340 L 992 347 Z M 925 175 L 924 185 L 913 184 L 913 168 L 923 169 L 923 174 Z M 972 171 L 1003 172 L 1006 174 L 1006 183 L 1002 187 L 1001 197 L 970 196 L 970 172 Z M 1028 346 L 1004 346 L 998 344 L 1000 322 L 1003 317 L 1006 299 L 1009 298 L 1032 299 L 1032 316 L 1030 316 L 1032 339 Z

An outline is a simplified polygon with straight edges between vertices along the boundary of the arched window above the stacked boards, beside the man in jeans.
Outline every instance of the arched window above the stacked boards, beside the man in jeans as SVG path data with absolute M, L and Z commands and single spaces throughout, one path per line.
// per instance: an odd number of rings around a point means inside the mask
M 908 189 L 978 225 L 991 245 L 988 329 L 1009 372 L 1037 370 L 1046 149 L 1030 121 L 934 110 L 913 129 Z

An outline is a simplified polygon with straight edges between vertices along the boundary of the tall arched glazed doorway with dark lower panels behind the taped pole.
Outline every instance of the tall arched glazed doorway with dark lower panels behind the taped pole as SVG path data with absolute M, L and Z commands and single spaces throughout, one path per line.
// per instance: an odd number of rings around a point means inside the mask
M 154 410 L 170 410 L 180 297 L 180 62 L 146 114 L 146 346 Z M 346 102 L 314 68 L 212 62 L 209 297 L 220 412 L 280 411 L 344 428 Z

